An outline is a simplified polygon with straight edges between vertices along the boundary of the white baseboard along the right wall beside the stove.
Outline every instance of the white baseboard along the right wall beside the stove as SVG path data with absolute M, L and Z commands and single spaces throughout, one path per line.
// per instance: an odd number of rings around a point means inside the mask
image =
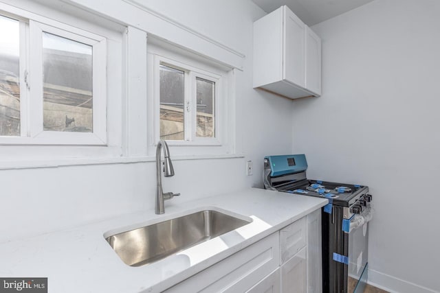
M 376 288 L 380 288 L 391 293 L 440 293 L 439 291 L 435 291 L 415 283 L 410 283 L 408 281 L 390 276 L 389 274 L 371 270 L 370 268 L 368 283 Z

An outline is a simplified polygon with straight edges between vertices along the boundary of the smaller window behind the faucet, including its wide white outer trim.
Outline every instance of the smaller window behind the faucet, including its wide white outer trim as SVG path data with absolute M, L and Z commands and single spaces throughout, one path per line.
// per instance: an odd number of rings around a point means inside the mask
M 148 37 L 148 154 L 159 139 L 173 156 L 235 155 L 234 69 Z

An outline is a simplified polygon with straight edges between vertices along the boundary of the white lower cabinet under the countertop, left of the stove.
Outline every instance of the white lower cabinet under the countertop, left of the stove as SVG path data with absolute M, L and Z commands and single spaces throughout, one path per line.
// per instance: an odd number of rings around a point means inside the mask
M 318 209 L 165 292 L 320 293 L 320 235 Z

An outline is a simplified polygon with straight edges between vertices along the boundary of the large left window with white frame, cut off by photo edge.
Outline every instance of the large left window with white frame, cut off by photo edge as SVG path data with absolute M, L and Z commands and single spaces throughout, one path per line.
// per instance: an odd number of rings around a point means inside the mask
M 0 11 L 0 143 L 105 145 L 106 39 L 26 14 Z

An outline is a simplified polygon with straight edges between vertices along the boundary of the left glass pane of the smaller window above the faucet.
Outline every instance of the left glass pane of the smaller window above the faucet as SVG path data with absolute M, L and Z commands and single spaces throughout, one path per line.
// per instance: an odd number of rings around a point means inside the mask
M 184 138 L 184 71 L 160 65 L 160 139 Z

